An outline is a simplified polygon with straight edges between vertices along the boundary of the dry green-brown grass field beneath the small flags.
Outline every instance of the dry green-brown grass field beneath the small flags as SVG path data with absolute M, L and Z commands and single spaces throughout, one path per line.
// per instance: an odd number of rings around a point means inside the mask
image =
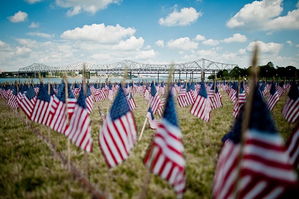
M 211 198 L 213 173 L 221 147 L 221 138 L 230 130 L 234 118 L 233 103 L 226 93 L 222 94 L 223 107 L 212 110 L 209 123 L 189 113 L 190 106 L 177 106 L 179 127 L 183 134 L 186 159 L 185 199 Z M 288 137 L 288 123 L 281 114 L 286 96 L 282 96 L 274 108 L 273 118 L 283 138 Z M 140 134 L 147 101 L 135 95 L 137 108 L 134 110 L 138 133 Z M 107 172 L 107 166 L 98 145 L 98 132 L 102 120 L 98 112 L 100 107 L 105 113 L 111 102 L 103 100 L 95 103 L 91 113 L 93 152 L 88 154 L 88 181 L 97 190 L 105 191 L 115 199 L 141 198 L 147 188 L 146 198 L 172 199 L 175 193 L 171 186 L 158 176 L 149 175 L 149 184 L 145 183 L 148 175 L 143 165 L 143 158 L 151 143 L 154 133 L 145 129 L 143 138 L 137 142 L 129 158 L 120 166 Z M 20 112 L 21 117 L 25 117 Z M 0 198 L 92 198 L 88 189 L 67 172 L 67 168 L 51 153 L 48 145 L 32 133 L 9 107 L 0 99 Z M 47 127 L 30 122 L 30 127 L 41 130 L 47 137 Z M 291 125 L 290 131 L 295 127 Z M 57 133 L 51 131 L 51 143 L 55 143 Z M 139 135 L 138 135 L 139 136 Z M 67 156 L 67 139 L 58 135 L 57 152 Z M 84 152 L 71 143 L 71 162 L 79 170 L 84 170 Z

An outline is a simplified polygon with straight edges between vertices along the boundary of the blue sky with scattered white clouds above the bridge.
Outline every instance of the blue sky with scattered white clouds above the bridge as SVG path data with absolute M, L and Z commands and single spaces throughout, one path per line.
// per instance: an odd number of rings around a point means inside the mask
M 299 68 L 298 0 L 0 0 L 0 69 L 201 58 Z

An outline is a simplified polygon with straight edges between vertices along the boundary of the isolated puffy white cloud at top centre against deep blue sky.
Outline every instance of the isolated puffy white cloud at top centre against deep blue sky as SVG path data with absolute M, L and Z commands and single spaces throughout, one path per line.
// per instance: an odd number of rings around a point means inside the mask
M 194 23 L 199 16 L 202 16 L 202 12 L 197 12 L 193 7 L 184 7 L 178 12 L 176 9 L 173 10 L 165 18 L 160 18 L 158 23 L 165 26 L 186 26 Z

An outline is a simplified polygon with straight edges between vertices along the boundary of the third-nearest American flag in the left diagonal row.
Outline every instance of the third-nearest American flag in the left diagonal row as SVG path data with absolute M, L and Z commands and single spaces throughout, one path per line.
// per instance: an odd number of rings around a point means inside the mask
M 39 124 L 46 125 L 51 107 L 51 96 L 48 89 L 41 84 L 37 95 L 36 104 L 34 106 L 31 120 Z

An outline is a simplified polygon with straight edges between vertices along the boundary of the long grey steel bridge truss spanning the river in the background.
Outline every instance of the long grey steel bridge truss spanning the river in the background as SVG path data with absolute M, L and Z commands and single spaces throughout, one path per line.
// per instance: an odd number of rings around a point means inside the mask
M 237 64 L 219 63 L 207 59 L 199 59 L 186 63 L 178 64 L 145 64 L 131 60 L 124 60 L 113 64 L 93 64 L 88 62 L 80 62 L 69 66 L 52 67 L 41 63 L 34 63 L 30 66 L 19 68 L 18 73 L 38 73 L 38 72 L 78 72 L 83 67 L 90 72 L 98 73 L 124 73 L 127 69 L 130 73 L 146 74 L 146 73 L 168 73 L 170 67 L 173 67 L 174 73 L 205 73 L 217 72 L 219 70 L 232 70 Z

